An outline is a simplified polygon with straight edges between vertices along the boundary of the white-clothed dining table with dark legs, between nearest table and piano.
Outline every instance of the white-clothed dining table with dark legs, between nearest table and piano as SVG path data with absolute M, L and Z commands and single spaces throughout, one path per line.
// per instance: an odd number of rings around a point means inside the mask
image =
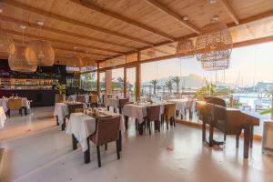
M 136 122 L 140 125 L 138 127 L 139 134 L 143 134 L 142 125 L 144 124 L 145 117 L 147 117 L 147 107 L 148 106 L 160 106 L 160 112 L 158 113 L 159 118 L 164 114 L 165 106 L 171 104 L 170 102 L 139 102 L 134 104 L 126 104 L 123 107 L 122 115 L 125 117 L 125 126 L 128 128 L 128 118 L 133 117 Z

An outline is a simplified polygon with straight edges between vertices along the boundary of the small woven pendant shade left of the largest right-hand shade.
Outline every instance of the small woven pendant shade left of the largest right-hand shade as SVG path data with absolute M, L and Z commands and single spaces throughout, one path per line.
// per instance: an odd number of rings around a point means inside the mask
M 195 47 L 193 41 L 190 39 L 184 39 L 177 42 L 177 54 L 183 54 L 186 56 L 177 56 L 180 59 L 193 58 Z

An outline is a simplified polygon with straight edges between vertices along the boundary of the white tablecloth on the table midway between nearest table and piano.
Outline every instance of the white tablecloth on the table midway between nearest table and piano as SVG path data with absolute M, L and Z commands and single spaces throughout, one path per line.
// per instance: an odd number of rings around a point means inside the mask
M 165 105 L 167 103 L 154 103 L 154 104 L 148 104 L 148 103 L 139 103 L 138 105 L 125 105 L 122 110 L 123 116 L 129 116 L 129 117 L 135 117 L 138 121 L 138 123 L 144 122 L 144 117 L 147 116 L 147 106 L 160 106 L 160 116 L 164 113 Z

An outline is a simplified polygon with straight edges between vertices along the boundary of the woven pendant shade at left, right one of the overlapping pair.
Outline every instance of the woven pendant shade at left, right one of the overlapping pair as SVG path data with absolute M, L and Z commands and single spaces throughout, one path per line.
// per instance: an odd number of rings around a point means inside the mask
M 32 66 L 53 66 L 55 54 L 49 42 L 35 40 L 26 46 L 25 57 L 28 64 Z

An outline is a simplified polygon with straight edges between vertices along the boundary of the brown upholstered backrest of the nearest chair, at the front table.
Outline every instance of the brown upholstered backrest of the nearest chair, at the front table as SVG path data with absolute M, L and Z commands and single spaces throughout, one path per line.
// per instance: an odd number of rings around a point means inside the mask
M 96 145 L 104 145 L 118 139 L 120 120 L 121 116 L 97 119 L 96 137 L 94 141 Z

